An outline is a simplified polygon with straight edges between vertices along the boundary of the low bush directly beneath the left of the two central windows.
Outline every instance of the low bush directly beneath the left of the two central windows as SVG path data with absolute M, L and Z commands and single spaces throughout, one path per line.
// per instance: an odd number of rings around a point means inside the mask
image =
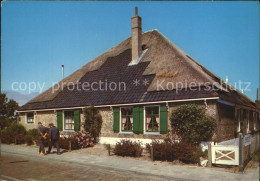
M 142 155 L 143 148 L 140 142 L 121 139 L 120 142 L 116 143 L 113 152 L 118 156 L 140 157 Z

